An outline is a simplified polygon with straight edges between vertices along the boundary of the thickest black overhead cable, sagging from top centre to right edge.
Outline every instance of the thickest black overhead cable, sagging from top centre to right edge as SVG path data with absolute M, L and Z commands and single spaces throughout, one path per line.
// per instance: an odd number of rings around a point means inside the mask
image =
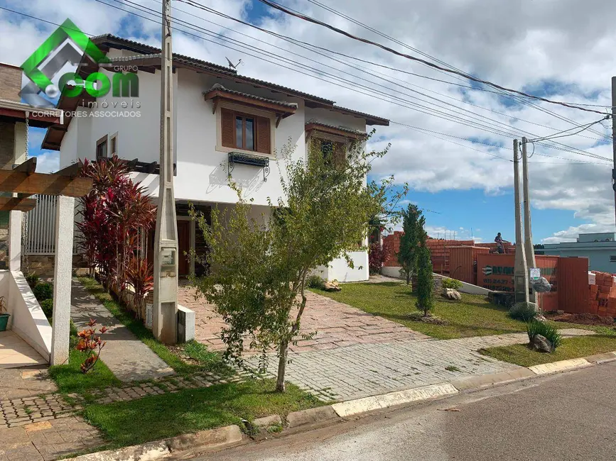
M 318 26 L 323 26 L 325 28 L 333 30 L 336 33 L 340 33 L 342 35 L 345 35 L 348 38 L 352 38 L 353 40 L 357 40 L 357 41 L 360 41 L 360 42 L 363 42 L 363 43 L 367 43 L 368 45 L 373 45 L 373 46 L 376 46 L 378 48 L 382 48 L 383 50 L 385 50 L 387 52 L 393 53 L 394 55 L 398 55 L 398 56 L 401 56 L 401 57 L 406 57 L 406 59 L 413 60 L 413 61 L 416 61 L 416 62 L 421 62 L 421 64 L 426 65 L 428 67 L 432 67 L 433 69 L 442 70 L 443 72 L 448 72 L 450 74 L 457 74 L 457 75 L 460 75 L 461 77 L 465 77 L 467 79 L 470 79 L 473 82 L 490 85 L 490 87 L 494 87 L 494 88 L 497 88 L 497 89 L 502 89 L 504 91 L 509 91 L 511 93 L 520 94 L 522 96 L 526 96 L 527 98 L 538 99 L 539 101 L 548 102 L 550 104 L 558 104 L 560 106 L 566 106 L 566 107 L 569 107 L 571 109 L 578 109 L 580 111 L 586 111 L 586 112 L 595 112 L 595 113 L 600 113 L 601 115 L 603 115 L 602 112 L 595 111 L 594 109 L 585 109 L 583 107 L 573 106 L 571 104 L 566 104 L 566 103 L 561 102 L 561 101 L 551 101 L 550 99 L 542 98 L 541 96 L 534 96 L 532 94 L 527 94 L 527 93 L 524 93 L 523 91 L 518 91 L 516 89 L 511 89 L 511 88 L 507 88 L 507 87 L 501 87 L 500 85 L 497 85 L 495 83 L 488 82 L 487 80 L 478 79 L 477 77 L 472 77 L 472 75 L 464 74 L 463 72 L 458 72 L 457 70 L 446 69 L 445 67 L 441 67 L 439 65 L 436 65 L 433 62 L 429 62 L 429 61 L 423 60 L 423 59 L 421 59 L 419 57 L 416 57 L 416 56 L 407 55 L 406 53 L 396 51 L 393 48 L 389 48 L 389 47 L 387 47 L 385 45 L 381 45 L 380 43 L 373 42 L 372 40 L 367 40 L 366 38 L 357 37 L 356 35 L 352 35 L 351 33 L 346 32 L 345 30 L 339 29 L 339 28 L 337 28 L 335 26 L 331 26 L 328 23 L 324 23 L 323 21 L 319 21 L 318 19 L 311 18 L 310 16 L 306 16 L 303 13 L 293 12 L 293 11 L 289 10 L 288 8 L 286 8 L 286 6 L 282 6 L 282 5 L 276 4 L 273 1 L 270 1 L 270 0 L 259 0 L 259 1 L 262 4 L 266 4 L 266 5 L 270 6 L 271 8 L 274 8 L 274 9 L 277 9 L 279 11 L 282 11 L 283 13 L 286 13 L 286 14 L 291 15 L 291 16 L 295 16 L 296 18 L 303 19 L 303 21 L 308 21 L 310 23 L 317 24 Z

